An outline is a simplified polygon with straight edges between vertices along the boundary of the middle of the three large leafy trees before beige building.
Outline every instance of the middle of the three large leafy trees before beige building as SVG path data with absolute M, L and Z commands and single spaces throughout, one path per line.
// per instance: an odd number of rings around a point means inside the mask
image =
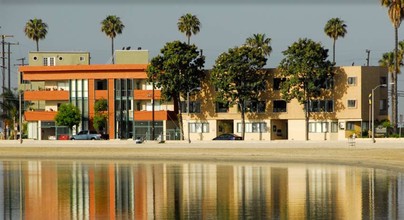
M 217 101 L 237 104 L 240 109 L 243 140 L 246 103 L 258 101 L 266 91 L 267 71 L 262 70 L 266 61 L 260 48 L 235 47 L 219 55 L 211 71 Z

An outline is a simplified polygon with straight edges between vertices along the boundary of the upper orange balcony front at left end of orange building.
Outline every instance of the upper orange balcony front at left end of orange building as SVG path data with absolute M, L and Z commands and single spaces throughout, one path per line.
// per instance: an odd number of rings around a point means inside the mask
M 40 90 L 40 91 L 25 91 L 25 101 L 68 101 L 69 91 L 59 90 Z

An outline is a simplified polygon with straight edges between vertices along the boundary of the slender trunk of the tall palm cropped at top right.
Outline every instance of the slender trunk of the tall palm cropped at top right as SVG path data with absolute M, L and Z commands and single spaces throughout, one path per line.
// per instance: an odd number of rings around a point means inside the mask
M 398 60 L 398 27 L 394 28 L 394 33 L 395 33 L 395 48 L 394 48 L 394 77 L 392 79 L 393 85 L 392 85 L 392 105 L 393 105 L 393 110 L 392 110 L 392 121 L 393 121 L 393 128 L 394 128 L 394 133 L 397 133 L 397 110 L 398 110 L 398 103 L 397 103 L 397 74 L 398 74 L 398 65 L 399 65 L 399 60 Z

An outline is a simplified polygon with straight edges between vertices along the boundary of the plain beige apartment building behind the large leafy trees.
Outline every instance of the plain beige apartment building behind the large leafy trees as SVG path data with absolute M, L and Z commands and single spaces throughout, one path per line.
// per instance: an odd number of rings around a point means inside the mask
M 281 99 L 276 70 L 269 69 L 265 98 L 251 102 L 246 113 L 245 140 L 304 140 L 305 110 L 297 100 Z M 361 137 L 369 130 L 372 89 L 387 84 L 387 69 L 383 67 L 336 67 L 334 86 L 324 89 L 321 98 L 310 102 L 309 139 L 343 140 L 356 134 Z M 214 89 L 203 84 L 201 91 L 190 96 L 190 114 L 184 114 L 185 137 L 191 140 L 211 140 L 222 133 L 241 136 L 241 114 L 237 106 L 215 103 Z M 388 118 L 388 92 L 375 89 L 375 121 Z M 184 100 L 186 102 L 186 100 Z M 185 105 L 185 104 L 184 104 Z M 187 123 L 188 122 L 188 123 Z M 377 124 L 377 123 L 376 123 Z

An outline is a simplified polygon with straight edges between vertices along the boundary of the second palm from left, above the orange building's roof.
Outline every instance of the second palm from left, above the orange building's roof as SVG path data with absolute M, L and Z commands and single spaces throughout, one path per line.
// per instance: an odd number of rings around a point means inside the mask
M 101 22 L 101 31 L 107 35 L 107 37 L 111 38 L 111 45 L 112 45 L 112 63 L 114 62 L 114 38 L 117 34 L 122 34 L 123 25 L 121 19 L 115 15 L 108 15 L 104 20 Z

